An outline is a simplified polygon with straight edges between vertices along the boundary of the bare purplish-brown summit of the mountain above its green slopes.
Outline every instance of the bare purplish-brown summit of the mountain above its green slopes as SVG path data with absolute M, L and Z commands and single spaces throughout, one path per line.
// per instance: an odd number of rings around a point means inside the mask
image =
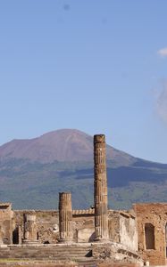
M 107 159 L 129 165 L 136 159 L 107 146 Z M 54 161 L 93 161 L 93 137 L 79 130 L 53 131 L 34 139 L 13 140 L 0 146 L 0 160 L 24 158 L 40 163 Z

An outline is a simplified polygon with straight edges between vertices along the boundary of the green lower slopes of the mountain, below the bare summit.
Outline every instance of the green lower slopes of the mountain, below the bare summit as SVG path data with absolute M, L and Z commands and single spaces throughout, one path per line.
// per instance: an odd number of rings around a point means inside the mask
M 131 166 L 114 166 L 112 161 L 107 166 L 111 208 L 167 201 L 166 165 L 138 160 Z M 60 191 L 71 191 L 73 208 L 93 205 L 93 163 L 41 164 L 22 159 L 0 162 L 0 200 L 12 202 L 14 209 L 57 209 Z

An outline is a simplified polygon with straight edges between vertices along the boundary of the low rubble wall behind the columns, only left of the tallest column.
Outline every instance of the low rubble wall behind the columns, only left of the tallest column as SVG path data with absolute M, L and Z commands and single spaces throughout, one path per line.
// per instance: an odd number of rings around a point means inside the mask
M 55 244 L 59 239 L 58 211 L 13 211 L 13 243 L 21 244 L 23 239 L 23 214 L 36 214 L 38 228 L 38 242 L 43 244 Z M 91 242 L 94 239 L 94 210 L 74 210 L 73 239 L 75 242 Z

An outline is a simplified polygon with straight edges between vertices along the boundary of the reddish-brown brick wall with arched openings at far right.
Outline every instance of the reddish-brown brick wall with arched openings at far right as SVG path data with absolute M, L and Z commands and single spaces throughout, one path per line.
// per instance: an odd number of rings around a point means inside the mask
M 152 265 L 165 265 L 167 204 L 135 204 L 138 221 L 138 251 Z

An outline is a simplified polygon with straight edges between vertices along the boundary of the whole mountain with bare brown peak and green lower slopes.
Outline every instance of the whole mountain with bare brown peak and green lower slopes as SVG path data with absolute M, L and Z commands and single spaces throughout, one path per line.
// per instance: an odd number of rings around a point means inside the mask
M 108 199 L 112 208 L 167 201 L 167 165 L 134 158 L 106 146 Z M 0 146 L 0 201 L 13 208 L 57 208 L 71 191 L 74 208 L 93 204 L 93 137 L 63 129 Z

